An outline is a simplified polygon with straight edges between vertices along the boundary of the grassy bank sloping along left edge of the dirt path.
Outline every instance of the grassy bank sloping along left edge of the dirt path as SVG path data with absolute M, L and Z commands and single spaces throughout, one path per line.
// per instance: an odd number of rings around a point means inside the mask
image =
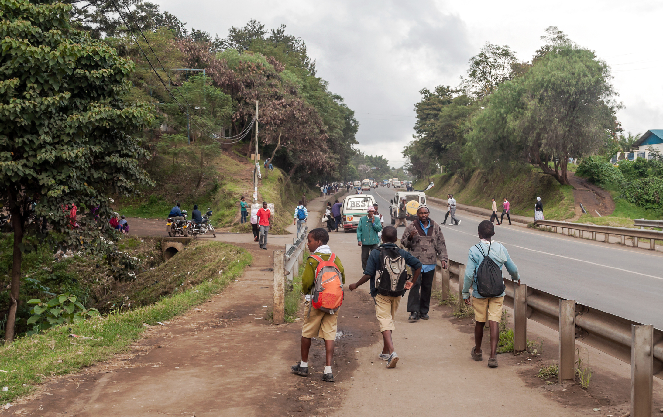
M 0 386 L 8 387 L 0 392 L 0 402 L 29 394 L 47 377 L 74 373 L 129 351 L 145 324 L 165 322 L 218 294 L 250 263 L 251 255 L 232 245 L 194 243 L 139 274 L 135 282 L 123 284 L 121 299 L 129 298 L 110 314 L 19 337 L 0 347 L 0 370 L 7 371 L 0 372 Z M 70 333 L 91 338 L 72 338 Z

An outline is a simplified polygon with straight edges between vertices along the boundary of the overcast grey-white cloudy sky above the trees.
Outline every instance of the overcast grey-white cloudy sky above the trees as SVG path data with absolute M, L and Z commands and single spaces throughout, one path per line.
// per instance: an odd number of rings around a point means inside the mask
M 318 76 L 359 120 L 359 149 L 401 166 L 421 88 L 457 86 L 486 41 L 530 61 L 548 26 L 597 52 L 613 68 L 627 131 L 663 129 L 660 1 L 288 1 L 152 0 L 212 36 L 257 19 L 284 23 L 317 62 Z

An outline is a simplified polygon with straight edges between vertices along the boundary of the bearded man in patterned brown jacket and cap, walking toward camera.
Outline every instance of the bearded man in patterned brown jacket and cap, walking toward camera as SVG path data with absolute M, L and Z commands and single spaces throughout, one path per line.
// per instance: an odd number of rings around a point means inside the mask
M 400 238 L 400 243 L 423 264 L 421 279 L 410 289 L 408 294 L 408 312 L 410 322 L 420 318 L 428 320 L 430 310 L 430 292 L 435 278 L 435 267 L 440 259 L 442 268 L 446 269 L 449 262 L 447 245 L 444 241 L 442 229 L 438 223 L 428 218 L 428 206 L 422 204 L 416 210 L 418 219 L 412 221 Z

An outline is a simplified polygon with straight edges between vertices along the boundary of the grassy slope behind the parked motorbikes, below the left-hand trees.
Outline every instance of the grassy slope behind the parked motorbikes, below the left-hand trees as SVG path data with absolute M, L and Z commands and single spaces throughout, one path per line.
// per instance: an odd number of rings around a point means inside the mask
M 149 164 L 149 172 L 156 186 L 143 190 L 142 197 L 117 199 L 118 213 L 128 217 L 161 219 L 179 201 L 182 209 L 189 213 L 194 204 L 198 204 L 198 209 L 203 213 L 211 208 L 211 221 L 215 227 L 235 225 L 233 231 L 250 231 L 250 227 L 237 227 L 235 223 L 239 221 L 239 198 L 246 196 L 248 202 L 253 200 L 251 159 L 236 148 L 224 150 L 206 167 L 204 179 L 200 183 L 188 174 L 188 168 L 184 164 L 174 164 L 170 159 L 155 156 Z M 261 162 L 261 170 L 263 179 L 259 180 L 259 200 L 273 203 L 276 211 L 271 233 L 285 233 L 284 227 L 290 222 L 287 214 L 294 211 L 302 192 L 310 194 L 312 191 L 292 186 L 292 183 L 284 187 L 287 176 L 279 168 L 274 168 L 266 176 Z M 194 184 L 198 184 L 198 190 Z

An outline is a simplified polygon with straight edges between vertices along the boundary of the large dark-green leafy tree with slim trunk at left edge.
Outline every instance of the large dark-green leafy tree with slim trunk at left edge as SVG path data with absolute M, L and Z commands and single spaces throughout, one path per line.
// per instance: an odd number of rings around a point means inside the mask
M 152 115 L 147 103 L 121 99 L 131 88 L 132 62 L 72 29 L 71 6 L 0 1 L 0 204 L 14 231 L 6 327 L 12 341 L 23 252 L 36 236 L 29 217 L 48 219 L 56 232 L 50 243 L 105 251 L 111 261 L 107 195 L 129 196 L 152 184 L 138 162 L 149 154 L 130 136 Z M 80 217 L 70 219 L 63 208 L 74 204 Z M 80 227 L 72 227 L 76 221 Z

